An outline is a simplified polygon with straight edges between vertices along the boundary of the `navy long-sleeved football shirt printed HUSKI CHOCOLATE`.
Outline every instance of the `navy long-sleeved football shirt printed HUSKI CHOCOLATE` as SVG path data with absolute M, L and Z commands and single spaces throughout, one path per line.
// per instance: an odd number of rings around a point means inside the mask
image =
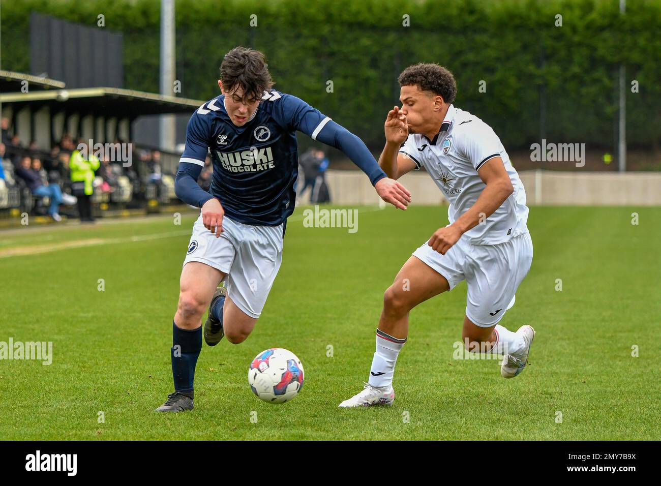
M 204 103 L 188 121 L 176 185 L 178 196 L 189 204 L 202 206 L 214 197 L 225 215 L 237 222 L 269 226 L 284 222 L 296 198 L 296 130 L 344 151 L 372 184 L 386 177 L 358 137 L 297 97 L 265 91 L 243 126 L 233 124 L 224 99 L 220 95 Z M 193 164 L 199 175 L 208 152 L 214 166 L 210 194 L 200 196 L 201 188 L 192 194 L 180 181 L 186 175 L 182 167 Z

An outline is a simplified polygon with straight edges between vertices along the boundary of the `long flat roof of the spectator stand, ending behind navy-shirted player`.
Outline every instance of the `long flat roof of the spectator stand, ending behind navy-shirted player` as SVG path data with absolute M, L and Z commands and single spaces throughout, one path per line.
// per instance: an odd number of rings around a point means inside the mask
M 190 113 L 204 101 L 177 98 L 143 91 L 119 88 L 80 88 L 38 91 L 34 93 L 5 93 L 1 103 L 11 103 L 22 108 L 28 104 L 50 106 L 56 110 L 99 114 L 106 116 L 128 116 L 166 113 Z

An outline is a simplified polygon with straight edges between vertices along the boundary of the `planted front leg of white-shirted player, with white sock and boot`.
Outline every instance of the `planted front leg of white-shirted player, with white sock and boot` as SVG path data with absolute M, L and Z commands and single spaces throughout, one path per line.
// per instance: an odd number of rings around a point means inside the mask
M 340 407 L 393 404 L 393 374 L 399 351 L 407 341 L 408 313 L 446 290 L 449 284 L 444 276 L 416 257 L 408 259 L 383 295 L 369 382 L 362 392 L 340 403 Z

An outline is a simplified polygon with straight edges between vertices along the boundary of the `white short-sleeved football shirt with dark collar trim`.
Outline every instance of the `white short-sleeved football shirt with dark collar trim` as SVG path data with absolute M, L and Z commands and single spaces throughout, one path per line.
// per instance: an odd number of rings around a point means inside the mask
M 410 134 L 399 151 L 414 161 L 416 169 L 424 166 L 445 194 L 450 203 L 447 209 L 450 223 L 469 210 L 486 187 L 477 173 L 480 167 L 500 157 L 514 192 L 484 223 L 469 229 L 465 235 L 473 245 L 497 245 L 528 232 L 524 185 L 498 136 L 477 116 L 450 104 L 434 140 Z

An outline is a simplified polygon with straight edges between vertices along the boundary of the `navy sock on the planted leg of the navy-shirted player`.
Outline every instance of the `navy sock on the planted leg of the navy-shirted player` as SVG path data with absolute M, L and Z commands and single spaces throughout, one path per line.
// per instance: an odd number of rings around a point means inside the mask
M 172 322 L 172 375 L 175 390 L 192 395 L 195 365 L 202 350 L 202 326 L 198 329 L 181 329 Z

